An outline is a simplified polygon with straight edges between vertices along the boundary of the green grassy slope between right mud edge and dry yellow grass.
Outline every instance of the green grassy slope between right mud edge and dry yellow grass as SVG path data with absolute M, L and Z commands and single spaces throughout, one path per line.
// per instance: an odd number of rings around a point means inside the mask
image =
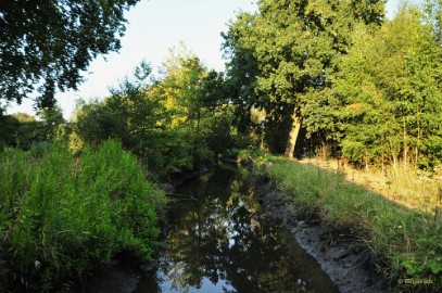
M 325 227 L 364 242 L 392 289 L 442 290 L 440 220 L 349 182 L 343 174 L 285 158 L 270 161 L 266 173 L 295 199 L 294 211 L 319 217 Z

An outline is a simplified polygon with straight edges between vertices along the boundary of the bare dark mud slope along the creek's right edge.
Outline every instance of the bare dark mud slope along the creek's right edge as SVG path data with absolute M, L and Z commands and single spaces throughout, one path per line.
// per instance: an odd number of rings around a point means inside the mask
M 340 292 L 387 292 L 382 276 L 375 272 L 370 253 L 357 239 L 346 234 L 325 235 L 319 220 L 296 215 L 295 202 L 265 178 L 254 180 L 254 189 L 264 208 L 282 222 L 296 242 L 320 265 Z

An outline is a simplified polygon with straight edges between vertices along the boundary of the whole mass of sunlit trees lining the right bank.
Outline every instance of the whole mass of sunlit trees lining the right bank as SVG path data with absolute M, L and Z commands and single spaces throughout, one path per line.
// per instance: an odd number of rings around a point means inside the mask
M 307 155 L 329 150 L 356 166 L 434 168 L 441 1 L 421 10 L 405 2 L 391 21 L 383 7 L 263 0 L 256 14 L 240 13 L 223 37 L 226 92 L 242 130 L 255 135 L 252 110 L 264 109 L 266 132 L 257 135 L 273 152 L 291 156 L 303 127 Z

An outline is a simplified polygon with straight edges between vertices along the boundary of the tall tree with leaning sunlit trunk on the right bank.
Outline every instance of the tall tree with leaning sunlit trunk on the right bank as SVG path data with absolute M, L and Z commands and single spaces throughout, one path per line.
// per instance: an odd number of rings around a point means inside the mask
M 285 154 L 292 157 L 305 104 L 329 87 L 337 71 L 333 60 L 346 53 L 353 26 L 382 22 L 383 1 L 262 0 L 260 13 L 245 16 L 238 17 L 226 35 L 229 49 L 239 53 L 230 54 L 231 64 L 253 55 L 254 71 L 242 74 L 254 78 L 255 101 L 266 110 L 267 118 L 290 120 Z M 237 68 L 248 69 L 232 67 Z

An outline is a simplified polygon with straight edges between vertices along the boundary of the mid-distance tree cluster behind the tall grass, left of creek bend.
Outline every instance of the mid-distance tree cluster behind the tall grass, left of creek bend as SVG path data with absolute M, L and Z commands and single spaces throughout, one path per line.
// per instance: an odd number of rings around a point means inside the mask
M 157 80 L 141 63 L 104 101 L 79 103 L 71 146 L 122 141 L 156 176 L 213 162 L 235 143 L 233 113 L 224 101 L 223 74 L 207 72 L 192 53 L 172 52 Z M 150 79 L 148 79 L 150 78 Z

